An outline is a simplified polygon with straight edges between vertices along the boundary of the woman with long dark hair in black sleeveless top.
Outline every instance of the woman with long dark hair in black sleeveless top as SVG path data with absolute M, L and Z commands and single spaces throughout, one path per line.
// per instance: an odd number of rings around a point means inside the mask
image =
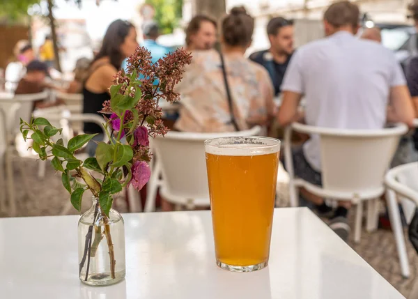
M 121 70 L 125 58 L 137 48 L 137 31 L 134 25 L 124 20 L 112 22 L 104 34 L 102 47 L 91 63 L 83 86 L 84 113 L 100 114 L 103 103 L 110 100 L 109 87 L 113 84 L 114 75 Z M 103 131 L 95 123 L 84 123 L 84 132 L 96 135 L 88 142 L 86 151 L 93 156 L 97 144 L 94 141 L 103 139 Z

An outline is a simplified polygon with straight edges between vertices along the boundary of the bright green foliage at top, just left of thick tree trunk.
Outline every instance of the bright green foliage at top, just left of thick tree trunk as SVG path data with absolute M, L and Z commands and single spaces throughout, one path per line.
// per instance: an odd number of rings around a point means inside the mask
M 146 0 L 155 9 L 155 21 L 162 34 L 173 33 L 182 17 L 183 0 Z

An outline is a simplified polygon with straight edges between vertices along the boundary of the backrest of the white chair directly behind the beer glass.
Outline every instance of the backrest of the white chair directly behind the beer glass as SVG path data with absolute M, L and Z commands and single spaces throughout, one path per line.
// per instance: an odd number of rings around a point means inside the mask
M 164 196 L 179 199 L 209 199 L 204 141 L 216 137 L 254 136 L 260 127 L 228 133 L 169 132 L 152 141 L 161 161 Z

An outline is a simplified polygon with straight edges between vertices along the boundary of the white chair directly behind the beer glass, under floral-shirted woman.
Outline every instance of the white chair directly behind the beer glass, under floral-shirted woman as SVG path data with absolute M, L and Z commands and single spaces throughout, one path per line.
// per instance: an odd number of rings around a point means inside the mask
M 261 127 L 226 133 L 169 132 L 152 141 L 156 155 L 148 183 L 145 211 L 155 210 L 157 189 L 167 201 L 187 208 L 210 206 L 204 141 L 210 138 L 254 136 Z M 160 179 L 162 176 L 162 179 Z

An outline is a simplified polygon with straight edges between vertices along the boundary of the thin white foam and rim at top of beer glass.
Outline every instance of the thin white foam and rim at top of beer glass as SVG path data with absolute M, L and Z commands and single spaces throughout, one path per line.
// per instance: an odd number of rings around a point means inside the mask
M 268 155 L 280 151 L 280 141 L 268 137 L 223 137 L 205 141 L 205 151 L 212 155 Z

